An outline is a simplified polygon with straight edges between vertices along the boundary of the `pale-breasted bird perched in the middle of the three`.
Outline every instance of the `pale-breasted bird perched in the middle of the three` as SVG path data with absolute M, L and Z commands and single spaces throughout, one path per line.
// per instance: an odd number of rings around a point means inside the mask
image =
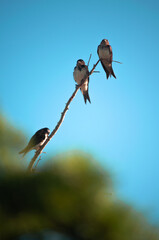
M 88 71 L 88 67 L 85 64 L 85 62 L 82 59 L 79 59 L 77 61 L 77 64 L 74 68 L 74 72 L 73 72 L 73 77 L 75 82 L 80 85 L 82 83 L 82 80 L 88 76 L 89 71 Z M 77 86 L 78 86 L 77 85 Z M 81 92 L 83 94 L 84 97 L 84 102 L 86 103 L 87 100 L 91 103 L 90 97 L 89 97 L 89 93 L 88 93 L 88 85 L 89 85 L 89 76 L 86 79 L 86 81 L 84 82 L 84 84 L 81 86 Z

